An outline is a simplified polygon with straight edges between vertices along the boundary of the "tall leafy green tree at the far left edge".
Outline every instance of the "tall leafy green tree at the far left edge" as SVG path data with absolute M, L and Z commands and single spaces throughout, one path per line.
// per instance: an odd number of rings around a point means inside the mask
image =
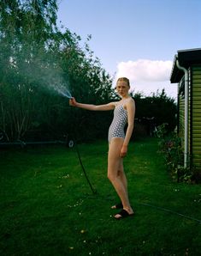
M 31 125 L 34 58 L 56 24 L 56 1 L 1 1 L 1 128 L 20 139 Z

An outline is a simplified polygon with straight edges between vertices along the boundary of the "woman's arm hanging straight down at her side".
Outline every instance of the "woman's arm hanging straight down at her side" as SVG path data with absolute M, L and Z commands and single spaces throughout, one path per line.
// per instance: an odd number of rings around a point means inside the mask
M 121 148 L 121 157 L 127 155 L 127 146 L 133 133 L 134 115 L 135 115 L 135 102 L 133 99 L 127 102 L 127 132 Z

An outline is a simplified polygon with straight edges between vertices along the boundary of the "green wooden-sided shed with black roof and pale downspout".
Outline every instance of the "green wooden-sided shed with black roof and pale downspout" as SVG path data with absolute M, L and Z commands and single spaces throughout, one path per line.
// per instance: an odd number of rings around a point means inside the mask
M 178 134 L 184 149 L 184 167 L 201 171 L 201 48 L 174 55 L 170 76 L 178 83 Z

